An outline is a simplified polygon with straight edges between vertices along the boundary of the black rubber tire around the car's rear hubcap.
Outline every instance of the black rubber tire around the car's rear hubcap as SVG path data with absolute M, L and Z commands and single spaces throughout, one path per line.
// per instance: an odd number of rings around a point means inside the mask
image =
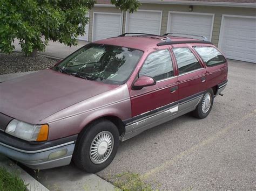
M 204 98 L 205 98 L 206 95 L 210 95 L 210 97 L 211 97 L 211 105 L 210 105 L 210 108 L 208 108 L 207 112 L 204 112 L 203 108 L 202 108 L 202 105 L 203 105 Z M 213 100 L 214 100 L 213 90 L 212 89 L 208 89 L 205 92 L 205 94 L 204 94 L 203 98 L 201 99 L 201 101 L 199 102 L 199 104 L 197 105 L 197 108 L 194 111 L 192 111 L 192 115 L 194 117 L 199 118 L 199 119 L 203 119 L 203 118 L 207 117 L 210 114 L 211 110 L 212 110 Z

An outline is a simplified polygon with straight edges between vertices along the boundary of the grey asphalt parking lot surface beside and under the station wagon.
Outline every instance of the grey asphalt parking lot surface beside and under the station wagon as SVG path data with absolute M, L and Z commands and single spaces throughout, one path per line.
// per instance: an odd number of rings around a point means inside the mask
M 229 63 L 224 96 L 215 98 L 207 118 L 181 116 L 120 143 L 97 175 L 113 181 L 120 173 L 139 173 L 161 190 L 256 189 L 256 65 Z M 84 189 L 86 175 L 73 164 L 38 174 L 43 185 L 60 190 Z

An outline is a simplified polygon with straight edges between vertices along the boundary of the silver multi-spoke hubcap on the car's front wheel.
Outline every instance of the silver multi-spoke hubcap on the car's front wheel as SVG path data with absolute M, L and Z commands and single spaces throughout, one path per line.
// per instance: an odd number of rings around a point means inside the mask
M 111 132 L 102 131 L 93 140 L 90 146 L 90 159 L 94 164 L 102 164 L 112 153 L 114 138 Z

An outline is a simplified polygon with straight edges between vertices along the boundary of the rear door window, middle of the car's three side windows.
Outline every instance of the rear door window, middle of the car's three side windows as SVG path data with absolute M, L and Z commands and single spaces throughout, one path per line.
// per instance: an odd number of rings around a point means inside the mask
M 172 50 L 177 61 L 179 74 L 201 68 L 196 56 L 194 56 L 189 48 L 173 48 Z

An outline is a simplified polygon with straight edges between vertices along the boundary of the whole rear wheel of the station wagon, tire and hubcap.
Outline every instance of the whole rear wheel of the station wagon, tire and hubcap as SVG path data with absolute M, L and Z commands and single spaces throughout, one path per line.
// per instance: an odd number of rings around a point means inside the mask
M 199 104 L 197 105 L 197 108 L 192 112 L 194 117 L 203 119 L 207 117 L 212 109 L 213 104 L 213 90 L 208 89 Z

